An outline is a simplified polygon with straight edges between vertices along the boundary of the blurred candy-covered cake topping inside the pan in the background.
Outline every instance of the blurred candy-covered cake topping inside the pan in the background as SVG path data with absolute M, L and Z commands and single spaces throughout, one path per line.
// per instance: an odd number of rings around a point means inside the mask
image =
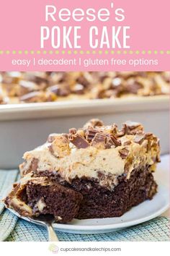
M 169 95 L 170 72 L 1 72 L 0 104 Z

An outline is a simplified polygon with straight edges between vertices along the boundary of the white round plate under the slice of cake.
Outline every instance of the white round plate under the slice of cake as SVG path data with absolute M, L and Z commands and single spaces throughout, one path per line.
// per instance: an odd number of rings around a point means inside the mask
M 153 197 L 153 200 L 142 202 L 119 218 L 74 219 L 71 223 L 55 223 L 53 226 L 57 231 L 68 233 L 99 234 L 125 229 L 129 226 L 149 221 L 161 215 L 161 213 L 164 213 L 169 208 L 169 155 L 164 155 L 161 158 L 155 179 L 158 183 L 158 193 Z M 11 211 L 19 216 L 14 210 Z M 21 218 L 28 221 L 27 218 Z

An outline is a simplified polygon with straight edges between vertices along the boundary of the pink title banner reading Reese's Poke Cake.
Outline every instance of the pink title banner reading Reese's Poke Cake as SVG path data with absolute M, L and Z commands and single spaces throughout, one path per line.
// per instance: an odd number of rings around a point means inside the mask
M 0 70 L 168 70 L 169 0 L 3 1 Z

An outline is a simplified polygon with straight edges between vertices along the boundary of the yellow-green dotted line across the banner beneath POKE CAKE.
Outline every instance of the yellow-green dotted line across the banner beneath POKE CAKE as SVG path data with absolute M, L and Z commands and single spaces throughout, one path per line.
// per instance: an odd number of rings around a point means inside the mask
M 45 51 L 45 50 L 38 50 L 38 51 L 2 51 L 0 50 L 0 54 L 170 54 L 170 50 L 169 51 L 151 51 L 151 50 L 148 50 L 148 51 L 102 51 L 102 50 L 92 50 L 92 51 L 71 51 L 71 50 L 68 50 L 68 51 Z

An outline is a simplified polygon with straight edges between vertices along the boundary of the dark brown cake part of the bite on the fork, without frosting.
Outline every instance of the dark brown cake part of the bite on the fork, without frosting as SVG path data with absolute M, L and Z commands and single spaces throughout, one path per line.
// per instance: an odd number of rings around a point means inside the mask
M 27 185 L 27 202 L 33 215 L 52 214 L 61 223 L 71 221 L 78 214 L 82 198 L 79 192 L 60 184 L 41 186 L 30 182 Z

